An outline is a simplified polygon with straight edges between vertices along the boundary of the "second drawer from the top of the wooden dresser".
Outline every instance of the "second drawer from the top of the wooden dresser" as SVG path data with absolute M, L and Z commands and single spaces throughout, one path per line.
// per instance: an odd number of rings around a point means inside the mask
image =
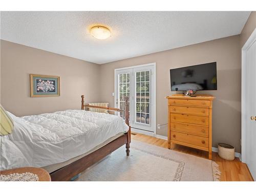
M 209 108 L 196 108 L 196 107 L 193 107 L 193 106 L 169 105 L 169 112 L 208 116 L 209 115 Z

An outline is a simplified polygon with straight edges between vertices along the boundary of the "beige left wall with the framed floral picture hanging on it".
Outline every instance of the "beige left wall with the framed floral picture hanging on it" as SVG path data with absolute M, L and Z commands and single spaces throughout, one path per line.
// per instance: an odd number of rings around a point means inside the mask
M 30 97 L 29 74 L 60 76 L 59 97 Z M 99 101 L 99 65 L 1 40 L 1 103 L 17 116 L 80 109 Z

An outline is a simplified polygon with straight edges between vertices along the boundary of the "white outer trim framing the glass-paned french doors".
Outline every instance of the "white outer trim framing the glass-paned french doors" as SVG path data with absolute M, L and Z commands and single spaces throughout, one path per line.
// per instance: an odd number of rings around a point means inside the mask
M 138 66 L 131 66 L 131 67 L 124 67 L 124 68 L 118 68 L 118 69 L 115 69 L 115 79 L 114 79 L 114 83 L 115 83 L 115 91 L 116 91 L 116 89 L 117 89 L 117 86 L 118 86 L 118 84 L 116 83 L 116 73 L 118 72 L 118 71 L 121 71 L 121 70 L 127 70 L 127 69 L 134 69 L 134 68 L 141 68 L 141 67 L 147 67 L 147 66 L 153 66 L 153 68 L 154 68 L 154 75 L 152 75 L 152 86 L 154 86 L 155 87 L 155 92 L 154 93 L 152 93 L 152 102 L 154 102 L 155 104 L 154 104 L 154 107 L 152 108 L 152 113 L 154 114 L 154 118 L 152 118 L 152 124 L 153 124 L 153 130 L 154 130 L 154 132 L 151 132 L 151 133 L 149 133 L 151 136 L 156 136 L 156 118 L 157 118 L 157 115 L 156 115 L 156 89 L 157 89 L 157 87 L 156 87 L 156 63 L 155 62 L 152 62 L 152 63 L 146 63 L 146 64 L 143 64 L 143 65 L 138 65 Z M 116 103 L 116 93 L 115 93 L 115 103 Z M 115 106 L 116 106 L 116 104 L 115 104 Z M 134 132 L 135 132 L 136 130 L 134 129 Z M 146 131 L 145 131 L 146 132 Z

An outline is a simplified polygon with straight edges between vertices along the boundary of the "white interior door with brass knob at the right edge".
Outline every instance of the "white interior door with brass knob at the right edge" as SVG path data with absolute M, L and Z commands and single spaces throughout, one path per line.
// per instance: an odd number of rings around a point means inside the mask
M 246 51 L 246 164 L 256 179 L 256 39 Z

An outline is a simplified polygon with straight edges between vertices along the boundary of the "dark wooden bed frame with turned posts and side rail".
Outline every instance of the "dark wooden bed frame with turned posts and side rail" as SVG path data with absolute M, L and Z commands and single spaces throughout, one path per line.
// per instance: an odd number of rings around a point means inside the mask
M 97 108 L 97 109 L 105 109 L 105 110 L 116 111 L 116 112 L 123 111 L 118 108 L 107 108 L 104 106 L 92 106 L 89 104 L 84 104 L 84 95 L 82 95 L 81 98 L 82 98 L 81 110 L 86 110 L 86 108 Z M 55 170 L 50 174 L 52 181 L 69 181 L 71 178 L 75 177 L 76 175 L 81 173 L 83 170 L 87 169 L 88 167 L 98 162 L 105 156 L 111 154 L 112 152 L 114 152 L 124 144 L 126 145 L 126 155 L 127 156 L 130 155 L 131 126 L 129 125 L 129 103 L 128 103 L 129 98 L 125 97 L 124 100 L 125 100 L 125 110 L 124 110 L 125 123 L 129 126 L 129 131 L 123 134 L 122 136 L 118 137 L 114 141 L 111 141 L 110 143 L 99 148 L 97 151 L 87 156 L 84 156 L 81 159 L 78 159 L 73 163 L 68 164 L 67 166 L 64 166 L 58 170 Z

